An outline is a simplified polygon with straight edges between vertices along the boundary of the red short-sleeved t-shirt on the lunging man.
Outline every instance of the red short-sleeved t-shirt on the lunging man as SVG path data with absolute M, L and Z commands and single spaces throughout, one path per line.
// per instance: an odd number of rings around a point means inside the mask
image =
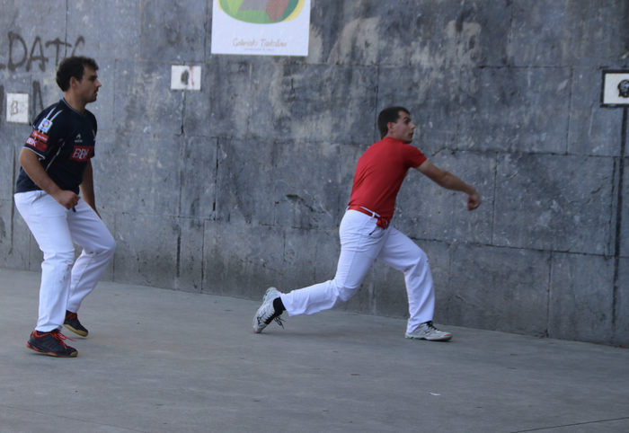
M 426 160 L 420 149 L 395 138 L 385 137 L 369 146 L 356 165 L 350 206 L 368 208 L 390 220 L 408 169 Z

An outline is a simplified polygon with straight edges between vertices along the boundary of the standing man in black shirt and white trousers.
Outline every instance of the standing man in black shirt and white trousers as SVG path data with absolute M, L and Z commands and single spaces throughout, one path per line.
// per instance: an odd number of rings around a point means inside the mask
M 35 119 L 20 153 L 15 206 L 44 253 L 39 319 L 26 347 L 54 357 L 77 355 L 59 331 L 66 326 L 87 336 L 76 313 L 116 249 L 96 210 L 93 190 L 97 124 L 85 105 L 96 101 L 102 85 L 97 70 L 93 58 L 61 62 L 57 84 L 64 98 Z M 83 248 L 76 261 L 74 243 Z

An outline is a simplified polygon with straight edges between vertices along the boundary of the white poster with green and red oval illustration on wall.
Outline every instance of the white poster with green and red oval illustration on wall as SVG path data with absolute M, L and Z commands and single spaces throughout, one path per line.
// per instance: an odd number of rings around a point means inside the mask
M 310 0 L 213 0 L 212 54 L 307 56 Z

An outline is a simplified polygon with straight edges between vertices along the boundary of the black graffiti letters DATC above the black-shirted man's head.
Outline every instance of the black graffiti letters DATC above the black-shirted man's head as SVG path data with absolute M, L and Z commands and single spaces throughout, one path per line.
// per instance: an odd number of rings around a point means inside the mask
M 66 48 L 72 49 L 70 56 L 74 56 L 76 49 L 85 45 L 83 36 L 76 38 L 74 45 L 58 38 L 44 42 L 40 36 L 36 36 L 29 49 L 29 45 L 19 33 L 9 31 L 8 36 L 9 57 L 6 65 L 0 63 L 0 70 L 8 69 L 11 72 L 22 66 L 25 67 L 26 72 L 30 72 L 33 67 L 38 67 L 41 72 L 44 72 L 52 56 L 55 57 L 55 67 L 57 67 L 59 60 L 65 57 Z

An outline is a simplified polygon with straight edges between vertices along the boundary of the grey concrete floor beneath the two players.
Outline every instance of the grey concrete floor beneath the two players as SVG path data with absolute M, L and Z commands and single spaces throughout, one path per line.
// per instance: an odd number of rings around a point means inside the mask
M 39 281 L 0 270 L 2 433 L 629 431 L 629 349 L 341 312 L 254 334 L 259 302 L 102 282 L 50 358 Z

